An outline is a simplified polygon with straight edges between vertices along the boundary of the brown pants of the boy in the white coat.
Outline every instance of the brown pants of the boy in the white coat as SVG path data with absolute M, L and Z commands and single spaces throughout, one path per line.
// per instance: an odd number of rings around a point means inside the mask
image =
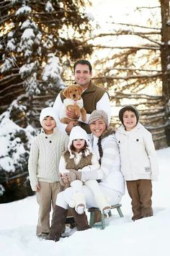
M 150 179 L 127 181 L 128 193 L 132 199 L 133 221 L 139 218 L 153 216 L 152 183 Z

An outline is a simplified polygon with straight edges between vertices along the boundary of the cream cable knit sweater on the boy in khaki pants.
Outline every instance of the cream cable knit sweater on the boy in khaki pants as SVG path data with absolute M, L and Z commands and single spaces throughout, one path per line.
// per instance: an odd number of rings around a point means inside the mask
M 46 135 L 42 129 L 40 135 L 32 140 L 28 171 L 33 191 L 36 191 L 38 182 L 59 181 L 59 161 L 67 145 L 68 135 L 61 133 L 58 128 L 54 129 L 53 135 Z

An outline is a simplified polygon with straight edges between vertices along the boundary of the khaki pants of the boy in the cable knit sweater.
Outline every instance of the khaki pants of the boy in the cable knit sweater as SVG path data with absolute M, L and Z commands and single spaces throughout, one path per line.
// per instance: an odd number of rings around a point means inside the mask
M 39 182 L 40 191 L 36 193 L 39 204 L 37 231 L 36 234 L 48 233 L 50 230 L 50 210 L 51 205 L 55 208 L 55 201 L 61 192 L 60 182 L 48 183 Z

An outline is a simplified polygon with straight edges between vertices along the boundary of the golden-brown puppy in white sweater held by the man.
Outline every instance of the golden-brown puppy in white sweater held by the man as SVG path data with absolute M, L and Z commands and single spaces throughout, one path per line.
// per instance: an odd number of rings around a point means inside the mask
M 81 98 L 83 88 L 81 85 L 69 85 L 63 90 L 63 95 L 66 97 L 63 100 L 63 109 L 61 114 L 61 122 L 63 124 L 69 124 L 70 121 L 79 119 L 81 116 L 82 121 L 86 121 L 86 110 L 84 108 L 84 102 Z M 66 116 L 66 110 L 75 111 L 77 119 L 70 119 Z

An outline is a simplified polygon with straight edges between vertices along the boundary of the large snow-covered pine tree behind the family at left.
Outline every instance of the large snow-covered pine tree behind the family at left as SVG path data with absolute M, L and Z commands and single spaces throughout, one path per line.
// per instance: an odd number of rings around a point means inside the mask
M 40 110 L 63 88 L 71 60 L 91 54 L 89 0 L 1 1 L 0 202 L 30 195 L 27 159 Z

